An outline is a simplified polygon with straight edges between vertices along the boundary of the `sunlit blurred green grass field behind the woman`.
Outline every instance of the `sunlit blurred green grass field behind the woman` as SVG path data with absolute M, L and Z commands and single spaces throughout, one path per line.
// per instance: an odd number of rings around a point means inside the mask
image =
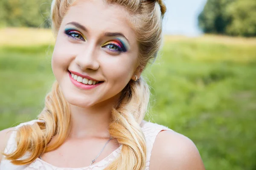
M 0 130 L 34 119 L 54 81 L 50 31 L 24 32 L 0 31 Z M 146 120 L 192 139 L 207 170 L 256 170 L 256 39 L 166 36 L 144 76 Z

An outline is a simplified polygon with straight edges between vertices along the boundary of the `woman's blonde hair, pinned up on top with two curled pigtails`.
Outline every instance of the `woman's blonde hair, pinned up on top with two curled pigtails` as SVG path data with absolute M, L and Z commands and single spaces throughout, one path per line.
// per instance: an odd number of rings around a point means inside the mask
M 76 0 L 53 0 L 51 6 L 52 30 L 57 35 L 62 19 Z M 141 68 L 154 61 L 162 43 L 162 19 L 166 6 L 162 0 L 104 0 L 106 3 L 123 6 L 129 12 L 139 44 L 138 61 Z M 131 80 L 122 90 L 117 107 L 112 109 L 109 133 L 122 144 L 120 156 L 105 170 L 145 169 L 146 142 L 140 127 L 147 111 L 150 91 L 140 77 Z M 17 149 L 3 154 L 13 164 L 29 164 L 42 153 L 57 149 L 70 133 L 70 108 L 58 82 L 45 98 L 45 107 L 33 125 L 17 129 Z M 52 137 L 56 140 L 51 141 Z M 49 142 L 51 143 L 49 144 Z M 26 152 L 31 154 L 22 158 Z

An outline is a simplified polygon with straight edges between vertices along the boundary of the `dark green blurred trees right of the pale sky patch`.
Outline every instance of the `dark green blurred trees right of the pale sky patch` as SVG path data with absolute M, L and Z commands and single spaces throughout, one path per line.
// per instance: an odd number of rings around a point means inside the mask
M 205 33 L 256 36 L 256 0 L 208 0 L 198 21 Z

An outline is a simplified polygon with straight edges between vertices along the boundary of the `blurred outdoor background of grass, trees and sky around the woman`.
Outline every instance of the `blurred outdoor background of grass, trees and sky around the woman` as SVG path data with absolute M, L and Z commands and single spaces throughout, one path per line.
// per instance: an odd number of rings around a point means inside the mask
M 146 120 L 188 136 L 207 170 L 256 170 L 256 0 L 165 0 Z M 54 76 L 51 0 L 0 0 L 0 130 L 35 119 Z

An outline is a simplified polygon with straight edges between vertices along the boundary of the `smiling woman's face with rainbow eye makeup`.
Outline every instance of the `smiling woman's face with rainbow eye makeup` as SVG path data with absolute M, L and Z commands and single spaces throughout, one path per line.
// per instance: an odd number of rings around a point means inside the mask
M 89 107 L 118 98 L 138 72 L 138 51 L 123 7 L 77 0 L 58 31 L 52 71 L 70 104 Z

